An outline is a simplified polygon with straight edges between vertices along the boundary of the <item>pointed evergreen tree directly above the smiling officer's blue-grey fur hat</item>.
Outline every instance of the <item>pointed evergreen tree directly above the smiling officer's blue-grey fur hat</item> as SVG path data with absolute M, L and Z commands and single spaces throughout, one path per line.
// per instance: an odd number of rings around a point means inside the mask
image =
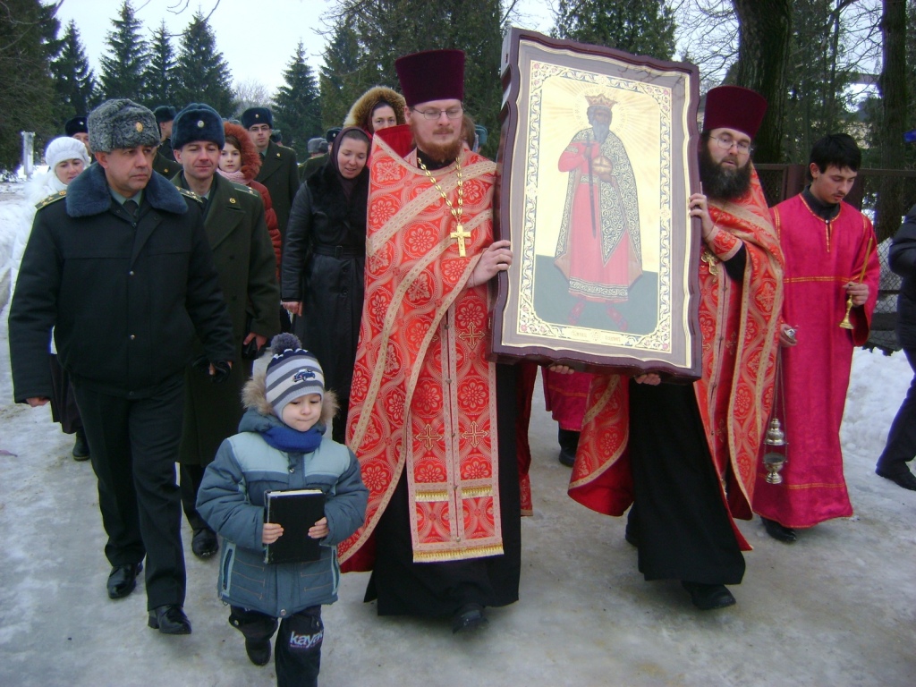
M 200 11 L 181 34 L 180 43 L 175 107 L 205 103 L 220 114 L 232 114 L 232 72 L 223 53 L 216 49 L 213 29 Z

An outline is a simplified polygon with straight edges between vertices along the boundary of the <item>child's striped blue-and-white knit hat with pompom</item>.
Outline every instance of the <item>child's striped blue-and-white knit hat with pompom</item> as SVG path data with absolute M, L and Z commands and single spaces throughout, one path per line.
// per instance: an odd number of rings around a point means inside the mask
M 267 402 L 278 418 L 291 400 L 309 394 L 324 398 L 322 365 L 302 348 L 295 335 L 277 334 L 270 349 L 274 356 L 267 363 Z

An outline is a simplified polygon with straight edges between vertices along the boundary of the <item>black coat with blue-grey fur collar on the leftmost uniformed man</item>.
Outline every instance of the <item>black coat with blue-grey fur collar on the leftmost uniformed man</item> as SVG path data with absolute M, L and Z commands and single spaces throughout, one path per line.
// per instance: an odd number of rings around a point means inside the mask
M 51 395 L 52 327 L 75 382 L 125 398 L 144 398 L 182 372 L 195 332 L 211 360 L 234 357 L 200 201 L 191 196 L 153 174 L 135 220 L 93 165 L 65 202 L 39 207 L 9 314 L 17 401 Z

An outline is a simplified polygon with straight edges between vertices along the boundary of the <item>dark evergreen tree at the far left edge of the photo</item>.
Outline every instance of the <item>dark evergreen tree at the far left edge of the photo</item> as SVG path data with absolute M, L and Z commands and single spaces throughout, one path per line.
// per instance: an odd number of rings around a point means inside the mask
M 0 171 L 16 169 L 22 158 L 20 131 L 35 132 L 36 150 L 55 134 L 50 60 L 59 28 L 53 5 L 0 3 Z

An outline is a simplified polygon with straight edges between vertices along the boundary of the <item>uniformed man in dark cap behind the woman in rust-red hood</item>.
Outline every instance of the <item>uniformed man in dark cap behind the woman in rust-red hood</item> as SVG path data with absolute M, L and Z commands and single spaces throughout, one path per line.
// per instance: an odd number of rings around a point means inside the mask
M 296 191 L 299 191 L 296 151 L 270 140 L 274 115 L 267 107 L 249 107 L 242 113 L 242 125 L 248 130 L 248 136 L 251 136 L 251 142 L 255 144 L 262 159 L 256 181 L 267 186 L 267 191 L 270 191 L 280 234 L 286 237 L 289 208 L 292 207 Z

